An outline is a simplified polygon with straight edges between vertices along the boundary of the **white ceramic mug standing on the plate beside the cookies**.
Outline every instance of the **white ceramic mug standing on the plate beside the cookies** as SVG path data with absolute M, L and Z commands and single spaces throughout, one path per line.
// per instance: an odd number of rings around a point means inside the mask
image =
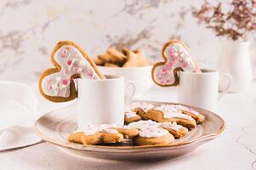
M 82 128 L 88 124 L 123 124 L 125 102 L 134 95 L 135 85 L 126 93 L 122 76 L 105 75 L 106 79 L 77 79 L 77 123 Z M 126 100 L 126 101 L 125 101 Z

